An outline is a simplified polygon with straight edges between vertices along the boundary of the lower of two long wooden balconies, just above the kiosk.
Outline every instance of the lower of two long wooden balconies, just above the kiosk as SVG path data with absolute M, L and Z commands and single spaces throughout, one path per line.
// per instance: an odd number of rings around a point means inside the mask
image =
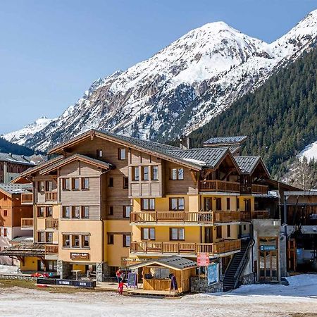
M 197 256 L 197 253 L 208 253 L 210 256 L 220 256 L 237 252 L 241 249 L 240 240 L 225 240 L 215 243 L 187 242 L 131 242 L 130 252 L 133 254 L 183 254 Z

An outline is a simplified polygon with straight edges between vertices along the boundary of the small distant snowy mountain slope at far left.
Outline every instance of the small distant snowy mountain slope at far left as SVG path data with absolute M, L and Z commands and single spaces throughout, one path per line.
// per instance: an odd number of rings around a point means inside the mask
M 19 145 L 24 145 L 29 139 L 35 135 L 35 133 L 43 130 L 53 119 L 46 117 L 41 117 L 35 120 L 35 122 L 30 123 L 30 125 L 25 126 L 20 130 L 16 130 L 6 135 L 1 135 L 4 139 L 9 142 L 13 142 Z

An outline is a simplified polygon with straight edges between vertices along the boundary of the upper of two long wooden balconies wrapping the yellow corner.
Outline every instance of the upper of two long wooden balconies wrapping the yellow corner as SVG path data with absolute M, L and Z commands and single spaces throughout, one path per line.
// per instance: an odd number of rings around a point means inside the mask
M 217 225 L 240 222 L 240 211 L 139 211 L 130 213 L 130 223 Z

